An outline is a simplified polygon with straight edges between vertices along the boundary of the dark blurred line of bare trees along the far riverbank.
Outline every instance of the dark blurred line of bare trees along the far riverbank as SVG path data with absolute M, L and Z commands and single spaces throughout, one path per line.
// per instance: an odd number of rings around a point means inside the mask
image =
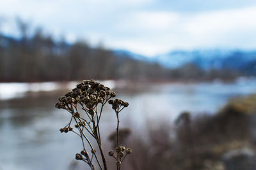
M 132 59 L 84 41 L 55 41 L 38 28 L 17 20 L 20 38 L 0 32 L 0 81 L 99 80 L 212 80 L 230 79 L 234 71 L 202 71 L 195 64 L 167 69 L 154 62 Z

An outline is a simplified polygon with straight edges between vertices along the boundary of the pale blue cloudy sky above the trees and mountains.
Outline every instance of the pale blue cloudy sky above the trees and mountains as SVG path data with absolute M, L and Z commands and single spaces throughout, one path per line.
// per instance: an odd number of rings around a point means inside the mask
M 148 57 L 172 50 L 256 47 L 255 0 L 0 0 L 0 31 L 15 17 L 68 42 Z

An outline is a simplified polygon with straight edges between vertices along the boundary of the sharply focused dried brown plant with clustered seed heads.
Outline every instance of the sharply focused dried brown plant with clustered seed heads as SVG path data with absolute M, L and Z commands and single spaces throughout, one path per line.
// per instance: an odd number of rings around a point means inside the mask
M 74 132 L 81 138 L 83 150 L 80 153 L 76 153 L 76 159 L 83 160 L 91 169 L 95 169 L 96 166 L 100 169 L 108 169 L 106 157 L 102 149 L 99 126 L 102 111 L 106 103 L 111 104 L 117 118 L 115 152 L 108 152 L 108 155 L 116 160 L 117 170 L 120 170 L 125 157 L 132 152 L 131 148 L 125 149 L 125 146 L 120 146 L 119 136 L 119 113 L 129 103 L 121 99 L 111 99 L 115 96 L 115 92 L 111 92 L 109 87 L 105 87 L 94 80 L 84 80 L 77 84 L 75 89 L 67 92 L 65 96 L 58 98 L 58 103 L 56 103 L 56 108 L 64 109 L 71 113 L 70 121 L 65 127 L 60 129 L 60 132 Z M 71 126 L 72 122 L 74 122 L 76 129 L 73 129 Z M 92 140 L 97 143 L 101 160 L 99 159 L 99 155 L 96 154 L 96 148 L 93 147 Z M 87 152 L 86 146 L 90 147 L 91 153 Z

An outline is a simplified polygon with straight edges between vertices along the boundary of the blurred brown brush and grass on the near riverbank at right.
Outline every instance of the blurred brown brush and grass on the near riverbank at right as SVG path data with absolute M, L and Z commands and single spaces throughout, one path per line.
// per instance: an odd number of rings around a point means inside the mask
M 255 98 L 234 99 L 214 115 L 184 112 L 175 125 L 152 122 L 125 144 L 134 155 L 124 169 L 256 169 Z

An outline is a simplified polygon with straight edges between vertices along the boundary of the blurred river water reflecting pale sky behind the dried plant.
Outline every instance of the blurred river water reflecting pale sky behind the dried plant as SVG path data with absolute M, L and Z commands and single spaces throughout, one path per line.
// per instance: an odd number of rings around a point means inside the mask
M 193 83 L 150 85 L 136 92 L 119 90 L 130 106 L 122 113 L 125 127 L 143 127 L 147 120 L 174 120 L 181 111 L 213 113 L 230 97 L 256 91 L 256 81 L 246 83 Z M 0 169 L 68 169 L 81 142 L 58 129 L 69 115 L 54 108 L 60 94 L 42 92 L 11 101 L 0 101 Z M 115 129 L 110 108 L 102 115 L 102 138 Z M 74 160 L 75 161 L 75 160 Z

